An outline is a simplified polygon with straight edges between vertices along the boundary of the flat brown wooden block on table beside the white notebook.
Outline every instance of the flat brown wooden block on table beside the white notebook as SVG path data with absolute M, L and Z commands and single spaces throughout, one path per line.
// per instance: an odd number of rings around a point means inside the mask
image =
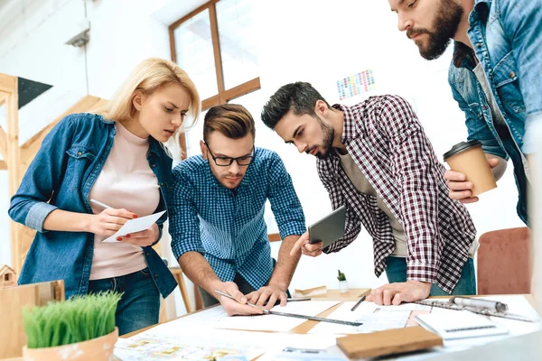
M 362 358 L 443 346 L 443 338 L 416 326 L 337 338 L 337 346 L 349 358 Z

